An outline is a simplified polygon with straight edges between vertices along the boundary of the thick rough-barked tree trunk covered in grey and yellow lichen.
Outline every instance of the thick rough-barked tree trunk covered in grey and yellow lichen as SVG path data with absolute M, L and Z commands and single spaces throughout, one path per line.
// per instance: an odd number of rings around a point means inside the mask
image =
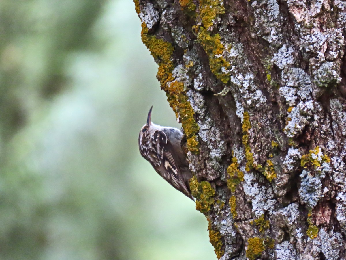
M 219 259 L 346 259 L 346 2 L 135 0 Z

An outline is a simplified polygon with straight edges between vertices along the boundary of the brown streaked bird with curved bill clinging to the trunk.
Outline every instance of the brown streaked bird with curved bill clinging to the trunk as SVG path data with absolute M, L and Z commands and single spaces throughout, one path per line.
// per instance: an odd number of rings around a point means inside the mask
M 152 109 L 153 106 L 147 123 L 139 131 L 139 152 L 163 179 L 194 201 L 189 184 L 192 172 L 181 148 L 183 133 L 174 127 L 154 124 L 151 121 Z

